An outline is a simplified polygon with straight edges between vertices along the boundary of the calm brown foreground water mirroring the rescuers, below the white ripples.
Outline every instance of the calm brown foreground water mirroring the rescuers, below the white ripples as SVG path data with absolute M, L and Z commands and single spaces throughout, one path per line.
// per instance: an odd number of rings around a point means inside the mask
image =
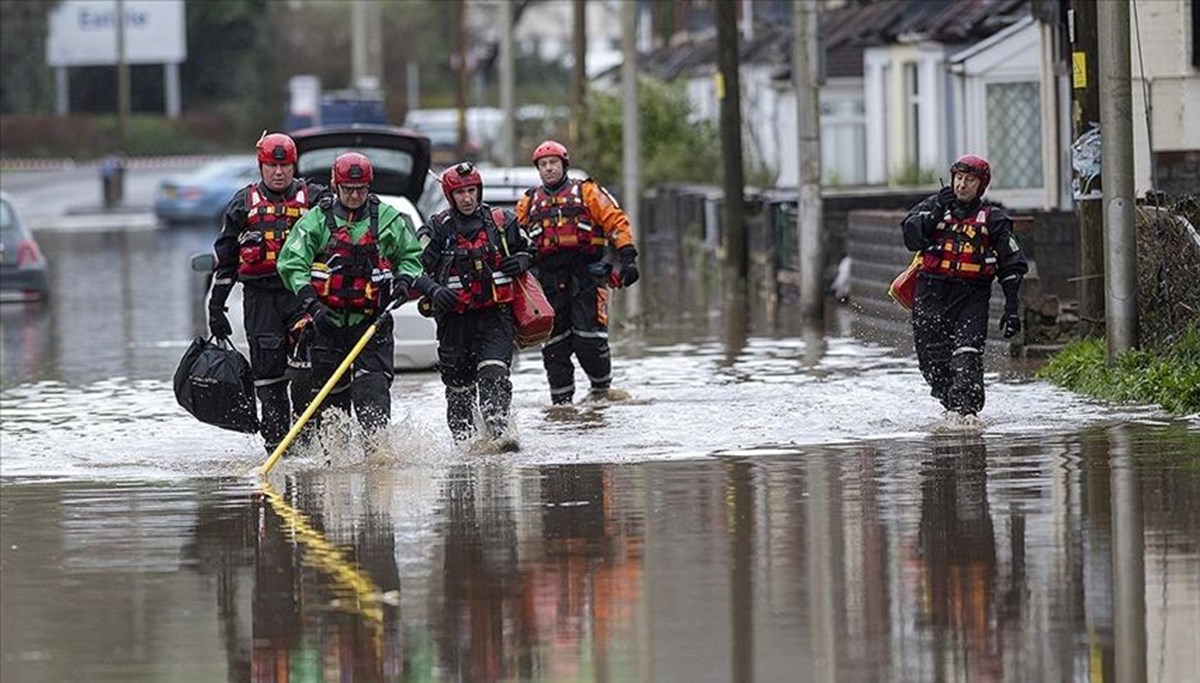
M 8 480 L 0 676 L 1183 681 L 1198 448 L 1140 425 L 264 490 Z

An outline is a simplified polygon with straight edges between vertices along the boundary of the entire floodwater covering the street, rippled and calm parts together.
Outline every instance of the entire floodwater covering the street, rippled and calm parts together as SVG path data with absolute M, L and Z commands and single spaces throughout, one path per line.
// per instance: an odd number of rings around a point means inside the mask
M 647 268 L 646 324 L 613 335 L 630 400 L 552 409 L 523 354 L 522 449 L 478 454 L 437 376 L 401 375 L 379 451 L 263 484 L 260 443 L 170 389 L 211 236 L 43 230 L 54 299 L 0 310 L 6 682 L 1200 671 L 1200 417 L 992 359 L 984 427 L 955 430 L 845 313 L 655 310 L 679 298 Z

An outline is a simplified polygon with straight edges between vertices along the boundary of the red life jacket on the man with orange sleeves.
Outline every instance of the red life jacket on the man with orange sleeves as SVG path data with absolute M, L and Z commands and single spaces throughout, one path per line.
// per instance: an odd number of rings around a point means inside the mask
M 599 253 L 606 240 L 604 230 L 592 224 L 592 216 L 583 203 L 583 184 L 568 179 L 557 192 L 539 185 L 529 193 L 527 217 L 529 240 L 539 256 L 559 251 Z

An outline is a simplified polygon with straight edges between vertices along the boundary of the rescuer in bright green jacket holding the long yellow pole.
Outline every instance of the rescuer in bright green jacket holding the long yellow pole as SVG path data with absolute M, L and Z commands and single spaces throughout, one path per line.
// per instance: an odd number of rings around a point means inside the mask
M 280 253 L 283 283 L 308 316 L 308 401 L 394 299 L 403 300 L 421 272 L 421 247 L 412 222 L 371 193 L 374 170 L 366 156 L 334 160 L 334 197 L 320 202 L 292 229 Z M 325 399 L 354 414 L 366 433 L 391 419 L 392 318 L 384 314 L 374 336 Z M 319 424 L 319 421 L 318 421 Z

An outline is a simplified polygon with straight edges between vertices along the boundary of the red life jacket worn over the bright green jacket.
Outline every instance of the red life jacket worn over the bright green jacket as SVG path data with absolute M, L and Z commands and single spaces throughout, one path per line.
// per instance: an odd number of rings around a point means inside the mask
M 379 253 L 379 203 L 372 197 L 370 224 L 358 242 L 350 224 L 337 224 L 332 209 L 325 212 L 329 242 L 312 264 L 312 286 L 320 301 L 335 311 L 371 316 L 391 294 L 391 262 Z

